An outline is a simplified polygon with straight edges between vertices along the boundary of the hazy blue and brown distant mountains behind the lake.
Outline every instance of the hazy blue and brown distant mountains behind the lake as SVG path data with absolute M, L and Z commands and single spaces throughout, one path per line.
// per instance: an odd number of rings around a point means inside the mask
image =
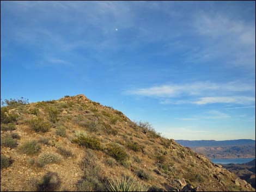
M 185 147 L 190 147 L 209 158 L 254 158 L 255 140 L 176 140 Z

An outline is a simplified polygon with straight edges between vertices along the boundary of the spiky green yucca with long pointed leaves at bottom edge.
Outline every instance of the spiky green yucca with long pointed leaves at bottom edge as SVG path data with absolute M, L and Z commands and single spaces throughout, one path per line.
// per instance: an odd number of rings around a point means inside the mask
M 108 181 L 108 191 L 148 191 L 149 187 L 143 183 L 136 182 L 134 178 L 123 176 L 115 181 Z

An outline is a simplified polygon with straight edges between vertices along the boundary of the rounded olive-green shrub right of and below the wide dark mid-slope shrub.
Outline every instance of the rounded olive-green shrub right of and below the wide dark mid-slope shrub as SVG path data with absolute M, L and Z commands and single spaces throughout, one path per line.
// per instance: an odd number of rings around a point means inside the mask
M 125 152 L 125 149 L 114 143 L 107 145 L 107 153 L 109 156 L 120 162 L 128 158 L 128 154 Z

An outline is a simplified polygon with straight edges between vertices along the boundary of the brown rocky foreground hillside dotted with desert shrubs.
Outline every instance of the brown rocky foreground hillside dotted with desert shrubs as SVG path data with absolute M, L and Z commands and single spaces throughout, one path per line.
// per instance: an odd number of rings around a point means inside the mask
M 121 185 L 124 183 L 124 185 Z M 84 95 L 1 107 L 1 191 L 255 191 Z

